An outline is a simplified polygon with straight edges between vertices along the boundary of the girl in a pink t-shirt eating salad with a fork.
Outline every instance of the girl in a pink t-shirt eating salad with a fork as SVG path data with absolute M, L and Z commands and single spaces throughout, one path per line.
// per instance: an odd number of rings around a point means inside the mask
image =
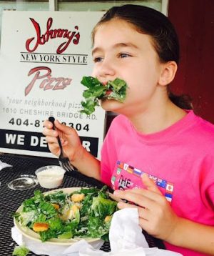
M 93 29 L 93 77 L 103 85 L 123 79 L 125 102 L 105 99 L 113 119 L 101 162 L 81 145 L 71 127 L 44 122 L 44 135 L 58 155 L 56 137 L 79 172 L 134 202 L 139 225 L 183 255 L 214 255 L 214 126 L 169 92 L 179 59 L 170 21 L 153 9 L 113 7 Z M 180 104 L 180 105 L 179 105 Z

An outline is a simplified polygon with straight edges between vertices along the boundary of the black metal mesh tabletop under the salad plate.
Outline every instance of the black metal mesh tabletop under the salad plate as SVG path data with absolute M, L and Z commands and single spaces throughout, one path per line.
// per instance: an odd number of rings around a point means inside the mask
M 14 220 L 11 217 L 13 212 L 16 212 L 21 203 L 30 197 L 34 196 L 34 190 L 40 189 L 42 192 L 49 191 L 44 189 L 39 184 L 27 190 L 11 190 L 7 184 L 12 180 L 20 177 L 21 174 L 35 174 L 36 169 L 45 165 L 57 164 L 57 159 L 44 159 L 41 157 L 26 157 L 12 154 L 1 154 L 0 160 L 11 164 L 13 167 L 5 168 L 0 171 L 0 255 L 12 255 L 16 242 L 11 238 L 11 227 L 14 227 Z M 103 183 L 96 179 L 86 177 L 85 175 L 73 171 L 66 172 L 63 179 L 62 187 L 103 187 Z M 143 232 L 150 247 L 159 247 L 165 249 L 163 242 L 154 237 L 151 237 L 146 232 Z M 110 245 L 105 242 L 101 247 L 103 251 L 110 251 Z M 30 253 L 29 255 L 35 255 Z

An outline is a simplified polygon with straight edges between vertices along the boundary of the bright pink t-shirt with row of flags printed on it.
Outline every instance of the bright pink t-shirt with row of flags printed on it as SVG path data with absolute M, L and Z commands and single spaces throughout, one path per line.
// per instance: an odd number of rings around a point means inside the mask
M 141 134 L 123 115 L 113 119 L 101 151 L 102 181 L 113 189 L 143 187 L 143 172 L 178 216 L 214 225 L 213 124 L 190 111 L 161 132 Z M 165 246 L 185 256 L 205 255 Z

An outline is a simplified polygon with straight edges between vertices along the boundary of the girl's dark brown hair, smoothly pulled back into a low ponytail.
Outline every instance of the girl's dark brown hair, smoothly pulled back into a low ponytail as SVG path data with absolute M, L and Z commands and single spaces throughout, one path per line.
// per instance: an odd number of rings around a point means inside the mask
M 160 11 L 135 4 L 126 4 L 123 6 L 113 6 L 103 15 L 98 24 L 92 31 L 92 41 L 96 29 L 111 19 L 122 19 L 136 27 L 136 30 L 143 34 L 148 34 L 153 40 L 153 46 L 161 62 L 175 61 L 179 62 L 179 41 L 173 24 Z M 187 95 L 175 95 L 168 88 L 170 100 L 178 107 L 183 109 L 192 109 L 190 97 Z

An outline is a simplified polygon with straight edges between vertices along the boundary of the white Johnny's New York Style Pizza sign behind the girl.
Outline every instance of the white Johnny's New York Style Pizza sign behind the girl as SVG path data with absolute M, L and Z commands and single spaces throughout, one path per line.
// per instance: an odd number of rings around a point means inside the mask
M 0 152 L 53 157 L 43 122 L 74 127 L 99 158 L 101 107 L 81 114 L 83 76 L 90 76 L 91 30 L 103 12 L 4 11 L 0 54 Z

